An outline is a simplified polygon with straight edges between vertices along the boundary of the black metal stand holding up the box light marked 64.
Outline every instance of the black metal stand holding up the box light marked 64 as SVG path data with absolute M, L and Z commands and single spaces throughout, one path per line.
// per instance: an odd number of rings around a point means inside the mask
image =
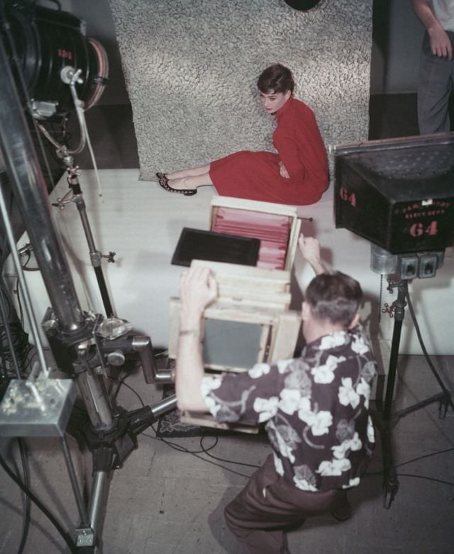
M 392 397 L 394 394 L 394 384 L 396 381 L 397 358 L 399 356 L 402 322 L 404 321 L 406 298 L 409 298 L 409 289 L 408 281 L 406 279 L 399 279 L 398 281 L 394 282 L 388 280 L 388 283 L 389 292 L 392 293 L 392 290 L 394 288 L 397 288 L 397 300 L 395 300 L 392 306 L 384 310 L 387 311 L 391 317 L 394 316 L 394 329 L 392 333 L 391 354 L 389 356 L 389 371 L 386 391 L 384 394 L 384 405 L 383 410 L 377 414 L 377 424 L 382 440 L 382 456 L 384 466 L 383 503 L 386 509 L 389 509 L 389 507 L 391 506 L 391 503 L 394 500 L 394 497 L 396 496 L 399 489 L 399 481 L 397 479 L 396 468 L 394 466 L 392 458 L 392 427 L 399 421 L 400 418 L 403 418 L 408 413 L 419 410 L 420 408 L 428 406 L 428 404 L 431 404 L 433 402 L 439 401 L 441 403 L 441 418 L 445 417 L 448 406 L 451 406 L 451 408 L 453 408 L 454 410 L 454 403 L 448 389 L 446 389 L 443 381 L 441 381 L 438 374 L 433 371 L 443 392 L 431 396 L 431 398 L 427 398 L 426 400 L 416 403 L 413 406 L 409 406 L 409 408 L 405 408 L 404 410 L 392 413 Z

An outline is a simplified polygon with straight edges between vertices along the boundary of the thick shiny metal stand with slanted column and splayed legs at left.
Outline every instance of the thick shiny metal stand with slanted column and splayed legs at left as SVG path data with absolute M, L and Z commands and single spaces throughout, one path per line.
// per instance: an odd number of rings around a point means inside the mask
M 79 434 L 83 436 L 93 458 L 94 479 L 87 507 L 84 506 L 77 487 L 69 450 L 65 442 L 62 442 L 81 521 L 74 541 L 74 551 L 99 553 L 112 470 L 121 467 L 126 457 L 137 447 L 138 433 L 160 415 L 175 408 L 177 399 L 173 395 L 152 406 L 129 412 L 121 407 L 113 408 L 106 392 L 104 373 L 110 362 L 121 362 L 124 354 L 138 353 L 146 382 L 168 383 L 172 381 L 172 376 L 170 371 L 156 370 L 149 337 L 130 335 L 123 320 L 103 320 L 99 315 L 93 317 L 82 311 L 67 259 L 60 246 L 60 237 L 52 222 L 45 180 L 1 40 L 0 75 L 0 149 L 4 154 L 14 197 L 26 224 L 50 298 L 52 308 L 45 317 L 45 328 L 54 354 L 60 352 L 60 368 L 77 383 L 87 410 L 87 415 L 84 415 L 81 425 L 78 426 Z M 14 246 L 12 244 L 12 249 Z M 42 373 L 47 374 L 45 360 L 40 362 L 40 366 Z M 23 380 L 18 381 L 19 385 L 23 384 Z M 26 384 L 30 385 L 29 389 L 38 393 L 35 382 L 26 381 Z M 17 408 L 16 401 L 17 398 Z M 50 409 L 52 403 L 53 399 L 48 406 L 43 407 Z M 9 436 L 43 436 L 35 433 L 34 421 L 31 418 L 27 420 L 28 412 L 30 410 L 24 409 L 20 423 L 10 425 Z M 1 420 L 0 424 L 2 429 L 8 427 Z M 16 428 L 20 428 L 21 435 L 15 432 Z M 60 434 L 64 436 L 64 433 L 63 428 Z

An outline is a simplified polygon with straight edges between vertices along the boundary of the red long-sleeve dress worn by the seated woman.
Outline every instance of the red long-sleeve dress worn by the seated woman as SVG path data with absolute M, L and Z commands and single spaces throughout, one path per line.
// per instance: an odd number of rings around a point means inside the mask
M 328 188 L 328 160 L 312 110 L 290 97 L 275 117 L 272 152 L 240 151 L 210 165 L 210 177 L 219 195 L 308 205 Z M 289 173 L 279 173 L 279 161 Z

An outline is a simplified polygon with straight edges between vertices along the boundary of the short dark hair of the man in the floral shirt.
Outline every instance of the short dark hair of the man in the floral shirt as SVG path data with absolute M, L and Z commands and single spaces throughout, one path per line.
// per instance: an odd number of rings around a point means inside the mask
M 341 271 L 314 277 L 304 295 L 316 319 L 341 323 L 345 327 L 358 312 L 361 298 L 360 283 Z

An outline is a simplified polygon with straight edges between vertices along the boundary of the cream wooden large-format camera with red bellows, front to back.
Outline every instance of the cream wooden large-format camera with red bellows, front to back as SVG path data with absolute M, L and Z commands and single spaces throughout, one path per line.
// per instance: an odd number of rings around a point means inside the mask
M 204 312 L 202 359 L 208 374 L 248 371 L 260 362 L 293 357 L 301 315 L 289 310 L 290 275 L 301 219 L 297 207 L 218 196 L 211 200 L 209 230 L 260 239 L 257 267 L 193 260 L 209 267 L 218 298 Z M 170 302 L 169 358 L 177 356 L 180 301 Z M 218 342 L 216 340 L 218 339 Z M 224 348 L 234 344 L 235 347 Z M 257 433 L 250 425 L 217 423 L 207 413 L 183 412 L 193 425 Z

